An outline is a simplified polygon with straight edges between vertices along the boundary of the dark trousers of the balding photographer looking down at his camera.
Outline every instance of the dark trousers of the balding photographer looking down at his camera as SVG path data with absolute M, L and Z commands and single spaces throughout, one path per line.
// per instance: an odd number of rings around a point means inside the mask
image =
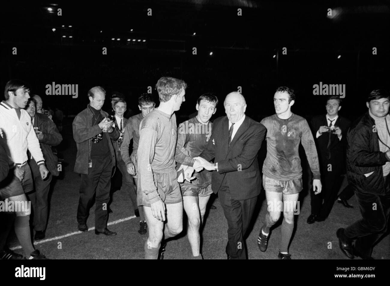
M 107 205 L 110 200 L 112 164 L 110 156 L 103 159 L 92 159 L 92 168 L 88 175 L 81 175 L 80 199 L 78 201 L 77 221 L 85 224 L 89 216 L 89 209 L 95 202 L 95 229 L 103 230 L 107 227 Z

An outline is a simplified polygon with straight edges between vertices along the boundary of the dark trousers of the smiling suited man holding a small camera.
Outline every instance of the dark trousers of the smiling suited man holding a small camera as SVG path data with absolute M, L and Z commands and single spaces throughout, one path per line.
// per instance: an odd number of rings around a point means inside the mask
M 332 171 L 328 171 L 328 165 L 324 165 L 321 174 L 322 191 L 318 195 L 310 190 L 311 214 L 327 218 L 332 210 L 333 204 L 339 192 L 342 177 L 341 169 L 335 164 L 332 165 Z

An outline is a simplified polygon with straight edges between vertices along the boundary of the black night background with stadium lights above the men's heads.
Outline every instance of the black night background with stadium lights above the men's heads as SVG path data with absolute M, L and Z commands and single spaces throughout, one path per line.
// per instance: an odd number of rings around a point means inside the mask
M 84 109 L 87 91 L 96 85 L 108 94 L 124 93 L 128 107 L 137 113 L 137 98 L 148 86 L 158 100 L 154 85 L 164 75 L 188 83 L 186 103 L 177 112 L 183 118 L 195 112 L 202 93 L 214 92 L 223 101 L 238 86 L 248 104 L 246 114 L 256 120 L 275 112 L 273 94 L 284 85 L 296 91 L 294 113 L 325 113 L 326 96 L 313 95 L 313 85 L 322 81 L 346 84 L 341 114 L 355 119 L 367 110 L 365 98 L 372 89 L 388 89 L 387 1 L 298 5 L 290 1 L 114 0 L 2 5 L 2 88 L 12 78 L 28 81 L 32 94 L 43 97 L 44 108 L 57 106 L 65 115 Z M 62 16 L 57 16 L 58 8 Z M 147 16 L 148 8 L 152 16 Z M 238 8 L 242 16 L 237 15 Z M 327 16 L 328 8 L 332 17 Z M 197 47 L 196 55 L 193 47 Z M 372 47 L 377 48 L 376 55 Z M 45 95 L 46 84 L 53 81 L 78 84 L 78 98 Z M 110 109 L 108 96 L 103 109 Z M 217 115 L 223 114 L 221 103 Z

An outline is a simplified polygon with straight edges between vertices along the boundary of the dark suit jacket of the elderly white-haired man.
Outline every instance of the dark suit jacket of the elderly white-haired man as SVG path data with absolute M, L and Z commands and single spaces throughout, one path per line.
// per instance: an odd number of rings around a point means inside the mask
M 266 134 L 266 128 L 259 122 L 245 116 L 230 146 L 229 119 L 222 116 L 215 119 L 211 138 L 200 157 L 207 161 L 215 158 L 218 172 L 212 175 L 211 187 L 217 193 L 225 178 L 234 200 L 256 197 L 261 191 L 261 178 L 257 153 Z

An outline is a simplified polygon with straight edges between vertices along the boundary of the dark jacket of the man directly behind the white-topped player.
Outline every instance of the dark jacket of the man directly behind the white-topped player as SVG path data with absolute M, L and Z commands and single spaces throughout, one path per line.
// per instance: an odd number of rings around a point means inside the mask
M 43 139 L 39 140 L 39 146 L 41 146 L 46 167 L 50 171 L 51 175 L 58 176 L 60 174 L 60 172 L 58 172 L 58 158 L 53 154 L 53 151 L 51 151 L 51 146 L 57 146 L 60 144 L 62 136 L 58 132 L 57 126 L 55 126 L 54 122 L 46 115 L 36 112 L 34 118 L 34 126 L 39 127 L 43 133 Z

